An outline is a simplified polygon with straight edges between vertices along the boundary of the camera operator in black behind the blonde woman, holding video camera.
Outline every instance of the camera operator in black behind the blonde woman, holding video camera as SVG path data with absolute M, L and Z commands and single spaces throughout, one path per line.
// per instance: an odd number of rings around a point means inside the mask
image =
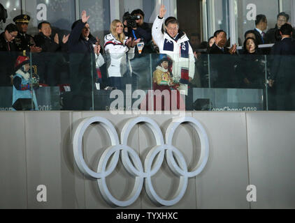
M 138 85 L 141 89 L 147 89 L 150 86 L 150 59 L 147 59 L 150 53 L 152 53 L 152 29 L 149 24 L 143 22 L 145 13 L 141 9 L 128 12 L 123 16 L 124 34 L 131 37 L 133 40 L 141 39 L 135 47 L 134 60 L 131 61 L 132 75 L 131 79 L 127 81 L 127 84 L 132 85 L 132 89 L 138 89 Z

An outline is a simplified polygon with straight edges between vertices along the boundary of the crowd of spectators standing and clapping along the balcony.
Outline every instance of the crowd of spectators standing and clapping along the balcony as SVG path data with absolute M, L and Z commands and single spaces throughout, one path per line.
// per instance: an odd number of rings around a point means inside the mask
M 266 16 L 257 15 L 255 27 L 245 32 L 243 49 L 239 50 L 236 45 L 229 45 L 224 30 L 215 31 L 208 42 L 201 42 L 199 33 L 192 33 L 188 37 L 181 31 L 178 20 L 175 17 L 165 20 L 165 14 L 166 9 L 161 6 L 151 27 L 143 22 L 143 10 L 125 13 L 122 22 L 111 22 L 110 33 L 105 36 L 103 47 L 100 40 L 92 36 L 87 23 L 89 16 L 85 11 L 81 20 L 73 23 L 71 33 L 63 36 L 53 33 L 51 24 L 46 21 L 38 24 L 38 34 L 30 36 L 27 34 L 29 15 L 18 15 L 13 20 L 15 24 L 8 24 L 0 35 L 0 85 L 13 84 L 13 64 L 17 56 L 32 52 L 39 84 L 69 84 L 75 95 L 74 100 L 87 109 L 91 106 L 90 99 L 81 95 L 93 91 L 93 82 L 96 82 L 96 89 L 105 90 L 124 89 L 125 84 L 132 84 L 137 89 L 140 79 L 145 82 L 152 73 L 147 54 L 157 52 L 168 56 L 171 61 L 168 68 L 173 79 L 171 83 L 185 95 L 192 87 L 265 89 L 268 86 L 275 89 L 282 82 L 282 79 L 278 79 L 282 75 L 277 75 L 278 66 L 281 65 L 273 63 L 279 59 L 271 55 L 294 57 L 290 56 L 294 55 L 294 51 L 289 47 L 293 47 L 295 31 L 288 23 L 289 15 L 286 13 L 279 13 L 275 28 L 268 31 Z M 285 51 L 278 50 L 277 46 L 285 43 L 286 38 L 290 43 L 283 46 L 288 49 L 281 46 L 279 48 Z M 259 47 L 268 43 L 275 44 L 273 49 Z M 106 56 L 102 56 L 103 52 L 106 52 Z M 265 66 L 264 55 L 268 55 L 268 64 L 275 64 L 277 68 Z M 159 56 L 158 61 L 162 58 Z M 290 78 L 289 82 L 293 82 L 293 77 Z M 150 81 L 156 82 L 153 77 Z M 292 95 L 293 88 L 288 88 L 286 92 Z

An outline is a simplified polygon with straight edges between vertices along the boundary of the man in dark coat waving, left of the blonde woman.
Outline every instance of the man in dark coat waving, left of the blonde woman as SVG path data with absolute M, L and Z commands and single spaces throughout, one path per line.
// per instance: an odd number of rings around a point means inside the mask
M 89 111 L 92 107 L 92 86 L 96 74 L 94 43 L 88 24 L 89 16 L 82 11 L 81 19 L 73 23 L 69 36 L 70 82 L 72 105 L 67 109 Z

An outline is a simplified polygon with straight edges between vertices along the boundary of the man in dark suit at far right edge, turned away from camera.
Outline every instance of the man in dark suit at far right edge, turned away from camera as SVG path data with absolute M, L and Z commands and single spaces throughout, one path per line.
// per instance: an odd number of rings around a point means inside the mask
M 280 111 L 295 109 L 295 40 L 292 40 L 292 26 L 280 28 L 282 40 L 273 45 L 274 55 L 269 86 L 276 86 L 276 106 Z

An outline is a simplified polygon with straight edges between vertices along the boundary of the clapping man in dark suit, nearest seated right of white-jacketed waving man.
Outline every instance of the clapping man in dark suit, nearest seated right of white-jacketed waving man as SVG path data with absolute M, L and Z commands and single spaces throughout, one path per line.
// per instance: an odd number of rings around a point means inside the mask
M 236 59 L 231 57 L 232 54 L 236 54 L 236 44 L 231 49 L 224 47 L 226 45 L 226 32 L 223 30 L 215 31 L 214 39 L 215 43 L 210 47 L 209 54 L 218 55 L 210 55 L 211 87 L 236 88 L 237 83 L 233 68 Z

